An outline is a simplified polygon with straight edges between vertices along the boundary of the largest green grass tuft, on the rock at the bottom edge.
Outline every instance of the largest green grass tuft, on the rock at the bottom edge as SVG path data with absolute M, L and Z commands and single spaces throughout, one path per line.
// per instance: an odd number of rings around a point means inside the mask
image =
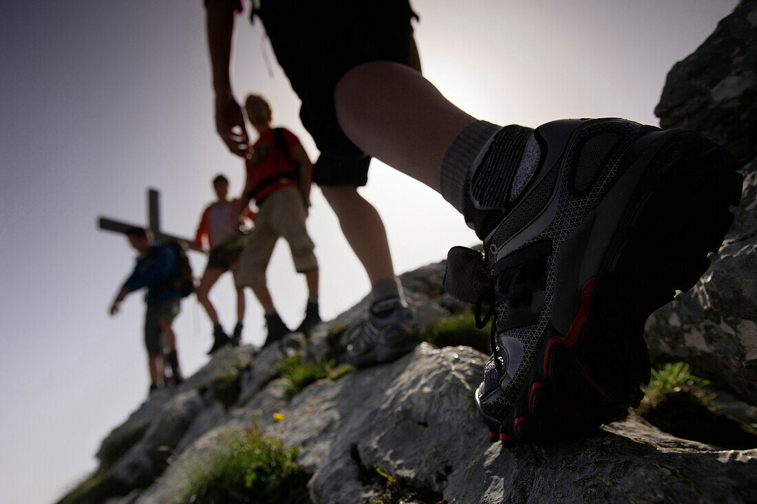
M 237 429 L 217 446 L 183 462 L 175 504 L 309 504 L 310 477 L 297 464 L 298 447 L 266 437 L 257 427 Z

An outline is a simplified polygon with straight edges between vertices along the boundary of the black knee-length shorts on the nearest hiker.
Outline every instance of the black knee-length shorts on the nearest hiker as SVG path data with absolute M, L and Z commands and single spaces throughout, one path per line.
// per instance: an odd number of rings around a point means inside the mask
M 370 61 L 407 64 L 416 17 L 408 0 L 263 0 L 257 11 L 276 59 L 300 97 L 300 119 L 321 158 L 318 185 L 365 185 L 370 158 L 341 131 L 334 89 Z

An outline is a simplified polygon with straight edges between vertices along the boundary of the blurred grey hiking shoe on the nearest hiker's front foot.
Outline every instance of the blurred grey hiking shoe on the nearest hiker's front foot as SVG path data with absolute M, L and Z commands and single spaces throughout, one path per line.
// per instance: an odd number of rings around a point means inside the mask
M 347 362 L 359 368 L 399 359 L 420 342 L 416 312 L 399 297 L 373 303 L 366 320 L 350 329 Z

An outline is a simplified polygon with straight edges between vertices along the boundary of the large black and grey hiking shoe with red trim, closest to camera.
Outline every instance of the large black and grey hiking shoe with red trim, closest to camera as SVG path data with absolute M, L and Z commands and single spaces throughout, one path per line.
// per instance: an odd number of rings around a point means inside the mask
M 561 120 L 534 135 L 536 174 L 483 255 L 450 250 L 444 279 L 478 325 L 494 316 L 475 400 L 491 440 L 508 443 L 638 405 L 644 323 L 706 271 L 742 183 L 731 154 L 683 129 Z

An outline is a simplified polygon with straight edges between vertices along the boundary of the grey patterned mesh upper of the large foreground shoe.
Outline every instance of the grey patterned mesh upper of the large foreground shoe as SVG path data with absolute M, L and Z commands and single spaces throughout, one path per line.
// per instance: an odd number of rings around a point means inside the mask
M 506 415 L 517 394 L 525 382 L 525 377 L 537 358 L 544 339 L 544 331 L 553 313 L 553 300 L 556 288 L 556 253 L 569 237 L 587 219 L 603 199 L 606 192 L 618 177 L 621 158 L 637 138 L 640 125 L 624 120 L 598 121 L 587 123 L 579 129 L 572 142 L 572 148 L 565 153 L 564 163 L 558 163 L 541 180 L 540 184 L 525 195 L 522 204 L 517 205 L 495 229 L 487 244 L 488 262 L 494 268 L 503 253 L 506 244 L 514 235 L 528 227 L 528 223 L 543 214 L 547 207 L 553 207 L 554 216 L 544 229 L 525 241 L 520 248 L 528 247 L 539 241 L 551 244 L 551 253 L 544 257 L 544 276 L 546 284 L 543 291 L 531 292 L 540 303 L 534 303 L 534 319 L 531 324 L 511 327 L 508 324 L 511 312 L 516 310 L 518 300 L 512 297 L 496 304 L 495 322 L 497 325 L 496 348 L 484 372 L 484 384 L 480 390 L 482 398 L 493 392 L 493 402 L 488 404 L 488 412 L 495 416 Z M 600 154 L 597 154 L 600 145 Z M 608 148 L 609 145 L 609 148 Z M 562 166 L 562 169 L 561 169 Z M 595 180 L 593 185 L 591 181 Z M 588 188 L 588 190 L 587 190 Z M 578 191 L 577 189 L 583 189 Z M 581 257 L 569 258 L 574 262 L 573 268 L 579 269 Z M 520 265 L 516 265 L 518 267 Z M 510 288 L 503 285 L 500 277 L 495 287 L 502 292 Z M 535 306 L 538 304 L 538 306 Z M 519 341 L 522 345 L 522 358 L 518 366 L 510 366 L 507 352 L 509 339 Z M 506 369 L 509 373 L 504 373 Z M 499 394 L 499 391 L 504 394 Z

